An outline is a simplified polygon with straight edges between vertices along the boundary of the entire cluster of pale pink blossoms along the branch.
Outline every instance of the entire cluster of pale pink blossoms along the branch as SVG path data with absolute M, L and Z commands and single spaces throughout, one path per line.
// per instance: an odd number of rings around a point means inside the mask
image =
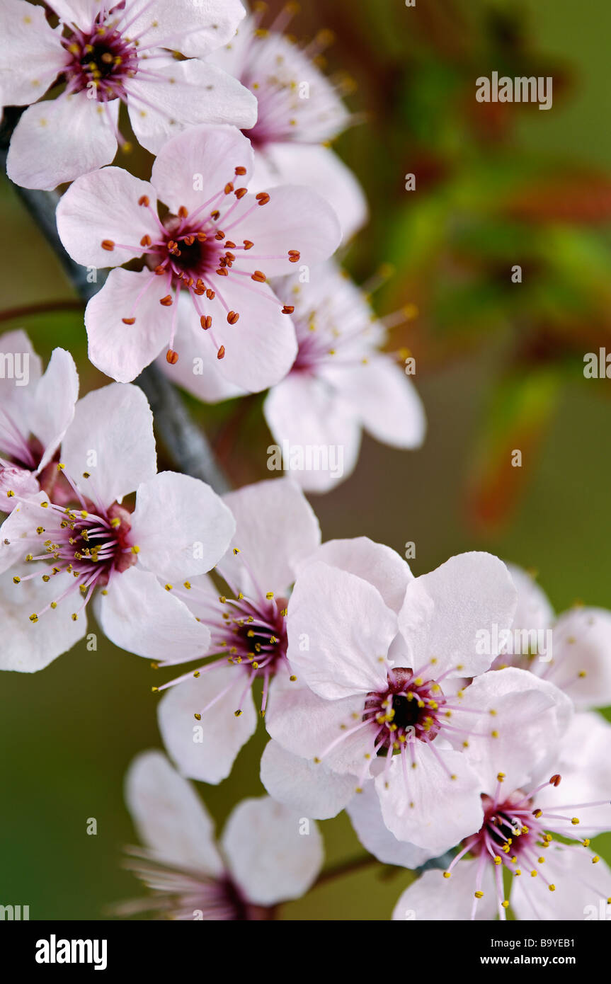
M 43 669 L 85 636 L 91 602 L 162 677 L 174 765 L 150 752 L 129 771 L 146 845 L 129 866 L 151 894 L 123 914 L 273 918 L 316 882 L 315 821 L 345 809 L 385 864 L 452 852 L 397 919 L 580 918 L 611 896 L 589 849 L 611 829 L 611 726 L 594 709 L 611 704 L 611 614 L 555 620 L 485 552 L 414 577 L 366 537 L 322 543 L 305 498 L 354 469 L 363 430 L 410 449 L 426 424 L 389 323 L 334 258 L 367 217 L 328 146 L 352 120 L 317 64 L 329 38 L 297 45 L 290 16 L 266 29 L 238 0 L 0 0 L 0 96 L 28 107 L 8 174 L 72 182 L 57 232 L 95 281 L 109 270 L 85 327 L 113 381 L 79 398 L 70 353 L 43 371 L 25 333 L 0 338 L 29 366 L 0 379 L 0 668 Z M 130 150 L 121 103 L 155 155 L 149 181 L 113 164 Z M 205 402 L 269 391 L 275 441 L 341 448 L 343 471 L 222 497 L 157 472 L 134 384 L 155 360 Z M 503 642 L 530 630 L 553 654 Z M 188 779 L 225 779 L 259 718 L 269 795 L 240 803 L 216 844 Z

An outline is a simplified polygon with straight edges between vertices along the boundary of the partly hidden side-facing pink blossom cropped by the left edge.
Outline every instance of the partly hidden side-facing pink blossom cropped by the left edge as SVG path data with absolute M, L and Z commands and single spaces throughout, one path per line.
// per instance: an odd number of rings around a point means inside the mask
M 6 493 L 50 492 L 57 470 L 52 464 L 74 417 L 79 377 L 70 352 L 56 348 L 46 371 L 25 332 L 0 336 L 0 351 L 13 372 L 0 379 L 0 497 L 2 511 L 15 504 Z M 15 369 L 19 365 L 20 376 Z

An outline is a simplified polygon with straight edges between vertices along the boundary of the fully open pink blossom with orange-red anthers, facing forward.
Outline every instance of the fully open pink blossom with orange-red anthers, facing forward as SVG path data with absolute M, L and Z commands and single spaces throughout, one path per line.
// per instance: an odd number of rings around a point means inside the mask
M 112 270 L 88 304 L 90 358 L 107 375 L 129 382 L 164 346 L 173 366 L 179 326 L 189 356 L 197 352 L 191 372 L 211 356 L 226 380 L 253 391 L 288 372 L 290 310 L 267 276 L 327 258 L 339 229 L 308 188 L 248 194 L 252 158 L 233 127 L 193 127 L 163 147 L 151 183 L 105 167 L 63 196 L 57 227 L 74 260 L 115 268 L 146 260 L 140 273 Z M 169 209 L 163 220 L 157 194 Z

